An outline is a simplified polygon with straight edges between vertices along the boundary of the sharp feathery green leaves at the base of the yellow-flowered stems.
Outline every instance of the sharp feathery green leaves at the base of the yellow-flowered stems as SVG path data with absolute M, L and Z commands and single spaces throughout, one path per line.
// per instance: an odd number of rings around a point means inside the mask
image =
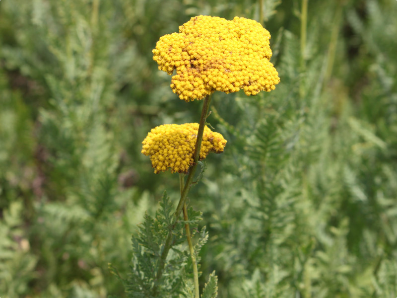
M 133 260 L 128 279 L 123 280 L 128 297 L 191 297 L 193 284 L 188 280 L 191 271 L 191 259 L 186 250 L 184 226 L 189 223 L 192 230 L 197 230 L 201 213 L 188 210 L 189 221 L 180 221 L 173 227 L 173 205 L 164 192 L 160 209 L 154 218 L 145 215 L 139 224 L 137 235 L 132 237 Z M 168 233 L 172 232 L 172 247 L 166 260 L 163 274 L 157 278 L 162 250 Z M 195 246 L 198 256 L 201 247 L 208 239 L 205 228 L 198 232 L 199 239 Z M 192 233 L 194 236 L 195 233 Z M 113 268 L 117 272 L 117 268 Z M 118 274 L 118 273 L 116 273 Z M 203 297 L 215 297 L 216 277 L 211 276 Z M 204 294 L 203 294 L 204 295 Z

